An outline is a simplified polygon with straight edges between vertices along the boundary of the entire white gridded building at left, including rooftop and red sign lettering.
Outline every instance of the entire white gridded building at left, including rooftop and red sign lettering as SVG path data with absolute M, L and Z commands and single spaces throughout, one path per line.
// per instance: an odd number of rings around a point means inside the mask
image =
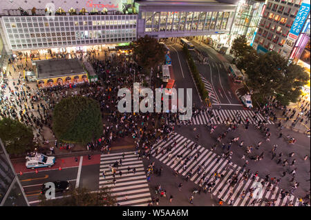
M 84 46 L 136 39 L 133 0 L 4 0 L 0 8 L 8 51 L 86 50 Z

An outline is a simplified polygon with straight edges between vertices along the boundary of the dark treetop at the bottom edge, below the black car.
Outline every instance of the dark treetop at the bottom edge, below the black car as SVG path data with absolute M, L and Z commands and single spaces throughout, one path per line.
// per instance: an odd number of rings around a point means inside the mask
M 39 206 L 115 206 L 116 199 L 109 188 L 91 192 L 88 188 L 73 188 L 64 193 L 62 199 L 46 199 L 39 195 Z

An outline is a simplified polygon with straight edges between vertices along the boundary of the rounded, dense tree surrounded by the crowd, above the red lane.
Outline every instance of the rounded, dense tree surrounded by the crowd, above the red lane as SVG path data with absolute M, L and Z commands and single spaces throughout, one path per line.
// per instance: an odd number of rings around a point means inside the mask
M 62 99 L 53 112 L 53 131 L 67 143 L 88 143 L 102 135 L 100 103 L 86 97 Z

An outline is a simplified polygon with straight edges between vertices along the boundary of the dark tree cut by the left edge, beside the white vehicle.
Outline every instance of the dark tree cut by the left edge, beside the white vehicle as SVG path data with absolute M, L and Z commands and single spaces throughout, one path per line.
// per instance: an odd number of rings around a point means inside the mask
M 3 118 L 0 121 L 0 138 L 8 154 L 23 154 L 35 149 L 32 129 L 17 120 Z

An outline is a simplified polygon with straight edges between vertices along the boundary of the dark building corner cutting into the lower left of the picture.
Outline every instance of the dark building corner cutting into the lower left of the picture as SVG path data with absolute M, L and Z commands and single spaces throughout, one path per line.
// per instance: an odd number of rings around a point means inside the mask
M 0 206 L 29 206 L 26 194 L 0 139 Z

